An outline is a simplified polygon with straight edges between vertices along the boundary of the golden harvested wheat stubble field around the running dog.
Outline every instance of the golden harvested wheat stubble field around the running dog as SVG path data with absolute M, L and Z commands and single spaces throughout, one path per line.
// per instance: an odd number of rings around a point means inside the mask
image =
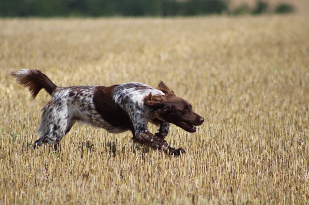
M 309 17 L 0 20 L 0 204 L 309 204 Z M 38 150 L 40 109 L 9 76 L 57 86 L 163 80 L 205 118 L 171 157 L 75 124 Z M 156 132 L 157 127 L 149 127 Z

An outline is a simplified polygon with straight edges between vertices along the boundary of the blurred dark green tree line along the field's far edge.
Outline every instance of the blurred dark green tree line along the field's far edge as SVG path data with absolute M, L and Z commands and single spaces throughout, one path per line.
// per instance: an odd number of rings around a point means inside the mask
M 0 0 L 1 17 L 192 16 L 243 11 L 229 11 L 228 0 Z

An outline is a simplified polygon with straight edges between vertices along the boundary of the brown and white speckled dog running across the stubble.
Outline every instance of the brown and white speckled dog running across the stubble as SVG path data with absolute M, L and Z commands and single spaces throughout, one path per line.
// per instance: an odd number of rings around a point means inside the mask
M 110 133 L 132 131 L 133 141 L 180 155 L 185 150 L 172 147 L 164 138 L 170 123 L 185 131 L 195 132 L 204 118 L 193 112 L 191 105 L 176 97 L 163 82 L 155 89 L 139 82 L 105 86 L 58 87 L 40 70 L 23 69 L 11 72 L 16 81 L 28 87 L 35 98 L 44 88 L 52 99 L 43 107 L 39 132 L 42 143 L 57 144 L 76 121 L 102 127 Z M 159 125 L 153 135 L 147 124 Z

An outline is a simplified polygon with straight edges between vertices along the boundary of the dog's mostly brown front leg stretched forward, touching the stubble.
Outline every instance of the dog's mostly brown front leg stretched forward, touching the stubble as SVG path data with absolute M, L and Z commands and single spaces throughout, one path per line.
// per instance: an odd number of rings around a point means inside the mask
M 135 132 L 135 136 L 136 138 L 133 139 L 134 142 L 152 147 L 153 149 L 163 150 L 165 153 L 168 152 L 170 155 L 178 156 L 180 153 L 186 152 L 185 149 L 171 146 L 167 143 L 167 141 L 153 135 L 147 129 Z

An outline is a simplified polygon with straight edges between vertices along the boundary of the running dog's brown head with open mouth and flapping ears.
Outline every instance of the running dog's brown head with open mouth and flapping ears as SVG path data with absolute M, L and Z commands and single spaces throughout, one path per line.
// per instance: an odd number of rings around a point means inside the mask
M 197 125 L 204 122 L 204 118 L 192 110 L 192 106 L 186 100 L 177 97 L 163 82 L 159 87 L 165 95 L 146 96 L 144 102 L 151 109 L 151 114 L 158 119 L 175 124 L 185 131 L 195 132 Z

